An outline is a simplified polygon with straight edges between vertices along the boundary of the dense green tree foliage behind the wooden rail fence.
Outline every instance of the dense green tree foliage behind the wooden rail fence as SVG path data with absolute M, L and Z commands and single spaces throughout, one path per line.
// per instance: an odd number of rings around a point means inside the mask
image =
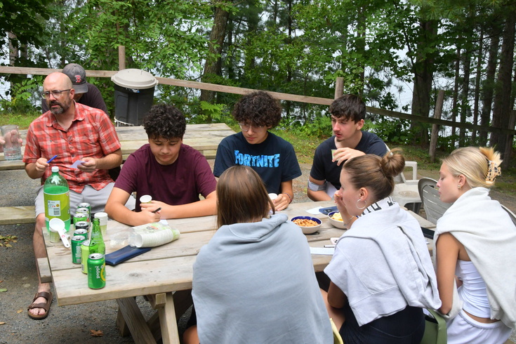
M 411 87 L 415 74 L 425 74 L 429 80 L 433 77 L 433 87 L 444 88 L 446 100 L 454 96 L 454 80 L 463 81 L 462 70 L 455 75 L 458 52 L 463 54 L 461 66 L 465 56 L 481 58 L 478 74 L 481 78 L 486 74 L 489 42 L 501 34 L 503 18 L 514 13 L 513 2 L 29 0 L 19 4 L 6 0 L 0 2 L 0 28 L 4 33 L 18 30 L 16 44 L 29 43 L 26 54 L 24 51 L 16 60 L 24 67 L 60 68 L 77 62 L 86 70 L 117 70 L 117 49 L 123 45 L 126 67 L 148 70 L 157 77 L 201 79 L 324 98 L 333 98 L 336 77 L 342 77 L 345 93 L 359 93 L 368 105 L 388 110 L 401 107 L 407 112 L 409 104 L 401 104 L 397 93 L 402 92 L 403 86 L 399 85 Z M 230 12 L 220 55 L 209 49 L 210 29 L 218 24 L 214 22 L 214 8 Z M 420 26 L 429 19 L 439 24 L 432 34 Z M 480 32 L 484 35 L 482 49 Z M 466 55 L 465 51 L 473 53 Z M 218 60 L 220 75 L 202 74 L 206 61 Z M 29 93 L 36 92 L 31 86 L 41 86 L 41 79 L 34 77 L 34 85 L 22 79 L 9 81 L 13 83 L 12 93 L 0 101 L 2 110 L 25 112 L 31 104 L 39 104 L 39 99 Z M 100 88 L 113 114 L 112 81 L 89 77 L 88 81 Z M 494 88 L 489 80 L 480 84 L 484 90 Z M 216 93 L 213 104 L 209 104 L 200 102 L 199 94 L 197 89 L 158 85 L 156 102 L 176 105 L 189 123 L 234 124 L 230 109 L 239 95 Z M 9 97 L 11 100 L 7 100 Z M 471 98 L 458 99 L 456 108 L 468 107 Z M 417 105 L 417 101 L 414 103 Z M 414 103 L 410 106 L 415 111 L 432 107 Z M 279 132 L 317 138 L 331 135 L 327 106 L 291 101 L 282 105 L 284 118 Z M 449 110 L 444 109 L 446 112 Z M 416 135 L 409 121 L 381 116 L 371 119 L 367 127 L 392 143 L 406 145 Z M 424 129 L 430 131 L 429 126 Z M 445 135 L 446 131 L 439 135 L 439 149 L 453 150 L 458 139 Z

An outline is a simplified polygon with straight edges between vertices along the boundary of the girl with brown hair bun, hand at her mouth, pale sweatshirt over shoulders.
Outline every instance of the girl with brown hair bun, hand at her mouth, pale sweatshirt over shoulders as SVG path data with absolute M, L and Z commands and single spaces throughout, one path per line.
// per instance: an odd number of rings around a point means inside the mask
M 331 283 L 322 293 L 347 344 L 420 343 L 422 307 L 441 306 L 421 227 L 390 197 L 404 165 L 395 151 L 366 154 L 340 173 L 334 198 L 349 230 L 324 269 Z

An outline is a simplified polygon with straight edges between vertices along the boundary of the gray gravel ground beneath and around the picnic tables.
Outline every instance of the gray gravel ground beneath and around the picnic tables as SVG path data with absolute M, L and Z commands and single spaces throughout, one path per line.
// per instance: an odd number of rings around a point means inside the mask
M 213 161 L 210 161 L 213 166 Z M 309 201 L 305 195 L 306 180 L 310 173 L 309 164 L 301 164 L 303 176 L 294 180 L 294 201 Z M 421 176 L 436 178 L 435 171 L 419 171 Z M 31 180 L 25 171 L 0 171 L 0 187 L 4 197 L 0 206 L 32 206 L 34 190 L 38 180 Z M 516 210 L 514 197 L 506 197 L 499 192 L 493 197 L 499 199 L 512 211 Z M 117 303 L 105 301 L 58 307 L 54 300 L 51 312 L 44 320 L 27 317 L 27 305 L 37 289 L 37 273 L 32 251 L 34 225 L 0 225 L 0 235 L 17 235 L 18 242 L 11 248 L 0 247 L 0 344 L 3 343 L 133 343 L 131 336 L 121 337 L 116 326 Z M 143 308 L 145 319 L 154 310 L 143 298 L 137 298 Z M 186 317 L 180 319 L 180 331 Z M 5 323 L 5 324 L 2 324 Z M 90 331 L 102 331 L 102 337 L 91 336 Z M 515 333 L 511 339 L 516 340 Z

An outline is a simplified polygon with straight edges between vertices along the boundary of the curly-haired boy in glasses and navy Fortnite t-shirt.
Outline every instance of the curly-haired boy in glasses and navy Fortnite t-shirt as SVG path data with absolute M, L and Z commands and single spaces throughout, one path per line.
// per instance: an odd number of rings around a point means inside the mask
M 218 145 L 213 174 L 219 177 L 234 165 L 250 166 L 267 192 L 277 194 L 275 209 L 285 209 L 294 197 L 292 180 L 301 176 L 301 169 L 291 143 L 268 131 L 282 119 L 279 102 L 262 91 L 249 93 L 234 105 L 232 114 L 242 131 Z

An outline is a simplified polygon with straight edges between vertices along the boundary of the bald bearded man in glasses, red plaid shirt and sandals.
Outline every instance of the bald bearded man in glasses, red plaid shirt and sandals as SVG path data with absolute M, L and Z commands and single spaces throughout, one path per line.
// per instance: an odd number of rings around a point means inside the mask
M 41 178 L 43 185 L 51 175 L 47 161 L 56 156 L 52 166 L 58 166 L 68 182 L 72 213 L 81 202 L 90 203 L 92 213 L 103 211 L 114 185 L 107 170 L 119 166 L 122 161 L 121 146 L 110 117 L 102 110 L 75 102 L 72 81 L 60 72 L 46 77 L 41 95 L 50 110 L 32 121 L 27 131 L 23 155 L 27 175 L 32 179 Z M 72 168 L 77 160 L 82 162 Z M 37 191 L 35 205 L 33 246 L 37 259 L 46 257 L 41 234 L 45 227 L 43 186 Z M 37 294 L 29 305 L 29 317 L 44 319 L 51 302 L 50 284 L 40 281 Z

